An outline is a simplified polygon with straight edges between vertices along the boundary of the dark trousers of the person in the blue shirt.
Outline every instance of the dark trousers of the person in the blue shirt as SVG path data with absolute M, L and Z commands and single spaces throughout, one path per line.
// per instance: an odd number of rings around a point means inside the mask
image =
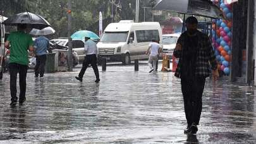
M 35 76 L 44 76 L 44 67 L 46 66 L 46 54 L 36 56 L 37 64 L 35 64 Z

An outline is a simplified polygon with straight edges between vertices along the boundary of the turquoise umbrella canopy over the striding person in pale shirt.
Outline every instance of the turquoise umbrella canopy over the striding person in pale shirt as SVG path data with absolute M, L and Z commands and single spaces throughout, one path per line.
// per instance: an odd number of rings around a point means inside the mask
M 88 30 L 80 30 L 73 35 L 71 35 L 71 39 L 73 40 L 85 40 L 85 37 L 90 37 L 90 39 L 97 40 L 100 39 L 98 35 L 96 35 L 94 32 L 90 32 Z

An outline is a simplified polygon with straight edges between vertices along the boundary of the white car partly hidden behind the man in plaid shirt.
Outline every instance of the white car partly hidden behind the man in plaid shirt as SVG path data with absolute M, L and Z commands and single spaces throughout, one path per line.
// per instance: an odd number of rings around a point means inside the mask
M 162 35 L 163 54 L 167 54 L 170 57 L 173 56 L 173 51 L 180 35 L 181 33 Z

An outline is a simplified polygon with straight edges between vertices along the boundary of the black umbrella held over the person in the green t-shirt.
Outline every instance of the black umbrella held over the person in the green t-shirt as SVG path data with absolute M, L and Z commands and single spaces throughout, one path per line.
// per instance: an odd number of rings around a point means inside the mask
M 24 12 L 9 17 L 3 22 L 5 25 L 27 24 L 27 27 L 42 30 L 42 28 L 51 27 L 50 23 L 42 16 L 34 13 Z

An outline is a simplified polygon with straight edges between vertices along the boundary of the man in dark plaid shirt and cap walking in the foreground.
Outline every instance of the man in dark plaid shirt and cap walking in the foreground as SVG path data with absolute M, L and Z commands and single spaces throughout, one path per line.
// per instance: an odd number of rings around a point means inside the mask
M 180 58 L 175 76 L 181 78 L 181 91 L 188 124 L 184 133 L 195 134 L 198 131 L 197 125 L 202 112 L 205 78 L 210 75 L 209 63 L 214 80 L 217 80 L 219 73 L 209 37 L 197 30 L 197 18 L 190 16 L 185 23 L 186 32 L 181 34 L 174 49 L 174 56 Z

